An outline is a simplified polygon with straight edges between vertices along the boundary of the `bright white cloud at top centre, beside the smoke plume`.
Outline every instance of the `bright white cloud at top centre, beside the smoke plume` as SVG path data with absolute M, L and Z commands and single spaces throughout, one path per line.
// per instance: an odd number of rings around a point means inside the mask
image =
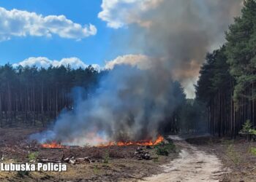
M 131 23 L 147 27 L 151 21 L 140 17 L 149 9 L 154 9 L 163 0 L 103 0 L 102 12 L 98 17 L 108 23 L 111 28 L 121 28 Z

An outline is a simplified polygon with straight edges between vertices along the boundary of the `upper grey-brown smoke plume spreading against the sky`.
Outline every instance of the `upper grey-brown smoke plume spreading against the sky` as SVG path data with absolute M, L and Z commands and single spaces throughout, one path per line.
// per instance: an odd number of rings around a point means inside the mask
M 240 15 L 242 2 L 162 1 L 156 9 L 134 17 L 140 22 L 151 22 L 148 28 L 136 23 L 129 25 L 129 37 L 122 39 L 118 35 L 113 47 L 117 44 L 123 50 L 139 50 L 145 55 L 164 58 L 174 79 L 190 90 L 189 98 L 193 98 L 192 84 L 196 82 L 206 52 L 217 49 L 225 41 L 225 31 L 233 23 L 233 17 Z M 132 19 L 133 15 L 130 16 Z

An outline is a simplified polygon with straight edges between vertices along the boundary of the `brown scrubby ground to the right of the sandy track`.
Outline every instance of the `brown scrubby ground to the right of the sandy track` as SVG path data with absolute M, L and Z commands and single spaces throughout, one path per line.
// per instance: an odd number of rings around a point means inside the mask
M 256 142 L 247 142 L 244 138 L 202 137 L 187 139 L 208 154 L 215 154 L 222 161 L 223 174 L 220 181 L 256 181 Z

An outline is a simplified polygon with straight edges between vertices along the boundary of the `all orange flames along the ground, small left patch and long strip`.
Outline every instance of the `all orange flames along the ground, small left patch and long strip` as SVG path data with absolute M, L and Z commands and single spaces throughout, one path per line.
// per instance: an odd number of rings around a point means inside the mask
M 97 147 L 107 147 L 107 146 L 155 146 L 158 143 L 161 143 L 164 141 L 164 138 L 160 135 L 157 140 L 155 141 L 119 141 L 119 142 L 109 142 L 109 143 L 102 143 L 99 144 Z M 48 149 L 62 149 L 64 146 L 62 146 L 60 143 L 52 142 L 52 143 L 44 143 L 42 144 L 42 148 L 48 148 Z

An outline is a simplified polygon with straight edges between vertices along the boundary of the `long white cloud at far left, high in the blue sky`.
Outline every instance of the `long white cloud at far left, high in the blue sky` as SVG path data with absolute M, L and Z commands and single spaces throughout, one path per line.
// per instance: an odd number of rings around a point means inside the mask
M 73 23 L 64 15 L 43 17 L 35 12 L 0 7 L 0 41 L 12 36 L 52 36 L 68 39 L 83 39 L 97 33 L 94 25 Z

